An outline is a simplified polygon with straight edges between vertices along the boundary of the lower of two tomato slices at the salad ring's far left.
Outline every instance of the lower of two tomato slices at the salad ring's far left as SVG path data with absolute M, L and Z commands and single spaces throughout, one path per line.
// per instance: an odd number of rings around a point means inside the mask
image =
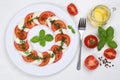
M 14 46 L 18 51 L 23 51 L 23 52 L 25 52 L 29 48 L 29 45 L 28 45 L 27 41 L 24 42 L 23 44 L 18 44 L 14 41 Z

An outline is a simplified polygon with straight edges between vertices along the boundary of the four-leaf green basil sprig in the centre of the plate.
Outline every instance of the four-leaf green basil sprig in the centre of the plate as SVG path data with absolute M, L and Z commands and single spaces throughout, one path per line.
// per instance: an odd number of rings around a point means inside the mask
M 32 37 L 31 42 L 37 43 L 44 47 L 46 42 L 51 42 L 53 40 L 53 36 L 51 34 L 45 34 L 45 30 L 40 30 L 39 35 Z

